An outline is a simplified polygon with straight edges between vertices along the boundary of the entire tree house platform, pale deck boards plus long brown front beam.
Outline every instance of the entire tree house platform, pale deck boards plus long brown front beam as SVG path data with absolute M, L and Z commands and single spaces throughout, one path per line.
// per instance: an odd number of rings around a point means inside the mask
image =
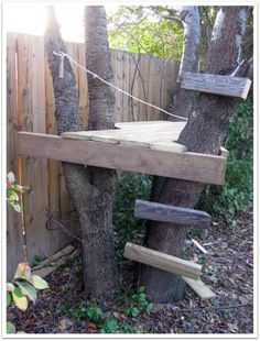
M 185 122 L 117 123 L 113 130 L 66 132 L 62 136 L 18 133 L 19 154 L 68 163 L 221 185 L 226 152 L 186 152 L 176 143 Z

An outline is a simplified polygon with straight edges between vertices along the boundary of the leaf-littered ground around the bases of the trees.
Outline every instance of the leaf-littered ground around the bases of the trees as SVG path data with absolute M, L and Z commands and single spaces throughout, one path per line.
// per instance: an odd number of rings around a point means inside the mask
M 231 231 L 221 221 L 198 238 L 203 254 L 187 244 L 187 253 L 203 264 L 203 280 L 216 297 L 202 301 L 189 288 L 184 300 L 149 305 L 144 293 L 131 292 L 131 262 L 122 263 L 124 292 L 110 299 L 84 301 L 82 265 L 68 261 L 46 280 L 50 289 L 22 312 L 9 308 L 8 318 L 26 333 L 252 333 L 253 242 L 252 215 L 237 218 Z

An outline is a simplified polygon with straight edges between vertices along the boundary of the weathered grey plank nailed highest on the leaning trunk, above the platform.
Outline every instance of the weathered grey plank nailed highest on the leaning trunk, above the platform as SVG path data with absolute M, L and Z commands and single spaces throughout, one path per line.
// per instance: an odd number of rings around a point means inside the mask
M 181 87 L 187 90 L 242 99 L 247 98 L 250 86 L 249 78 L 195 73 L 185 73 L 181 84 Z

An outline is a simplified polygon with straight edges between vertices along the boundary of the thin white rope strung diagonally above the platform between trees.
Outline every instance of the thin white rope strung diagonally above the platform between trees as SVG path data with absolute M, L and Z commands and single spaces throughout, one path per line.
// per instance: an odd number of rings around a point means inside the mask
M 123 95 L 127 95 L 128 97 L 131 97 L 131 98 L 134 99 L 136 101 L 139 101 L 139 102 L 141 102 L 141 103 L 143 103 L 143 105 L 145 105 L 145 106 L 151 107 L 151 108 L 158 109 L 158 110 L 160 110 L 160 111 L 162 111 L 162 112 L 164 112 L 164 113 L 166 113 L 166 114 L 169 114 L 169 116 L 171 116 L 171 117 L 173 117 L 173 118 L 177 118 L 177 119 L 181 119 L 181 120 L 184 120 L 184 121 L 187 121 L 187 120 L 188 120 L 188 119 L 183 118 L 183 117 L 181 117 L 181 116 L 171 113 L 171 112 L 169 112 L 169 111 L 166 111 L 166 110 L 164 110 L 164 109 L 162 109 L 162 108 L 160 108 L 160 107 L 156 107 L 156 106 L 153 106 L 153 105 L 151 105 L 151 103 L 149 103 L 149 102 L 145 102 L 144 100 L 142 100 L 142 99 L 136 97 L 136 96 L 132 96 L 131 94 L 129 94 L 129 92 L 127 92 L 127 91 L 124 91 L 124 90 L 122 90 L 122 89 L 116 87 L 116 86 L 112 85 L 111 82 L 107 81 L 106 79 L 101 78 L 101 77 L 98 76 L 97 74 L 90 72 L 89 69 L 87 69 L 87 68 L 85 68 L 84 66 L 82 66 L 80 64 L 78 64 L 76 61 L 74 61 L 74 59 L 73 59 L 68 54 L 66 54 L 66 53 L 63 53 L 63 52 L 56 53 L 56 52 L 54 51 L 53 54 L 54 54 L 55 56 L 58 56 L 58 57 L 67 57 L 72 63 L 74 63 L 74 64 L 77 65 L 79 68 L 82 68 L 83 70 L 85 70 L 87 74 L 91 75 L 93 78 L 99 79 L 99 80 L 102 81 L 104 84 L 108 85 L 109 87 L 113 88 L 115 90 L 117 90 L 117 91 L 119 91 L 119 92 L 121 92 L 121 94 L 123 94 Z

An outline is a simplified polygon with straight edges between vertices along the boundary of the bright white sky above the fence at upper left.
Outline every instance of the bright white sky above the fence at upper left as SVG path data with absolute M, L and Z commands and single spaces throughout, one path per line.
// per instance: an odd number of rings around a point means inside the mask
M 86 3 L 55 3 L 56 15 L 65 41 L 84 42 L 84 8 Z M 9 2 L 3 7 L 7 31 L 42 35 L 46 24 L 46 4 L 43 2 Z M 106 6 L 108 13 L 117 10 L 116 4 Z

